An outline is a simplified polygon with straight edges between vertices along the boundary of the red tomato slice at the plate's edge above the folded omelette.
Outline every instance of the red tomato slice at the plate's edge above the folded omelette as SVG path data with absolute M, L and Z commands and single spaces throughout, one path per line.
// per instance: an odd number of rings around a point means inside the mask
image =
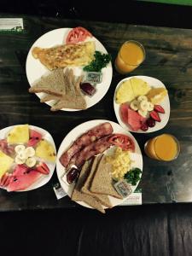
M 83 42 L 87 37 L 92 37 L 92 34 L 82 26 L 74 27 L 67 35 L 67 44 L 77 44 Z

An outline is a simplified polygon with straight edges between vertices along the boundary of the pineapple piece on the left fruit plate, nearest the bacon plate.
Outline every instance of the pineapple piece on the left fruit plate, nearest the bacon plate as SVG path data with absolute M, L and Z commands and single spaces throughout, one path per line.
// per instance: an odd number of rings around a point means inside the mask
M 56 158 L 55 148 L 46 140 L 41 140 L 38 143 L 35 154 L 43 160 L 48 160 L 51 162 L 54 162 Z

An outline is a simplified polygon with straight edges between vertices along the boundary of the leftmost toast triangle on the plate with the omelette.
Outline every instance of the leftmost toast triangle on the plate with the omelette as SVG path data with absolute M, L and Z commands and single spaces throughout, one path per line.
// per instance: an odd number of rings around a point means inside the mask
M 46 74 L 38 79 L 29 89 L 29 92 L 38 93 L 45 92 L 55 96 L 66 94 L 65 77 L 68 71 L 63 73 L 62 68 L 57 68 L 53 72 Z

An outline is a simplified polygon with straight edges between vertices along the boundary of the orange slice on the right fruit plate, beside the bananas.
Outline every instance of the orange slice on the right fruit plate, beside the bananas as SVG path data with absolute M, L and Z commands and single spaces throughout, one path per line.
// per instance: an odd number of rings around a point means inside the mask
M 163 101 L 165 96 L 167 95 L 167 90 L 165 88 L 152 88 L 148 92 L 148 101 L 152 102 L 154 105 L 159 104 Z

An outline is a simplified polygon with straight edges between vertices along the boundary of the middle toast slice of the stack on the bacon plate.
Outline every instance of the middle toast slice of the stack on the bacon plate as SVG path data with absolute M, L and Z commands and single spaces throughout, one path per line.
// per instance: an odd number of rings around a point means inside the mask
M 93 177 L 94 177 L 95 172 L 96 172 L 96 168 L 99 165 L 100 160 L 102 160 L 102 157 L 104 157 L 104 155 L 99 154 L 98 156 L 96 156 L 95 160 L 93 160 L 93 164 L 92 164 L 91 169 L 90 169 L 89 177 L 87 177 L 81 191 L 84 192 L 84 194 L 86 194 L 86 195 L 93 195 L 95 198 L 97 198 L 99 201 L 102 202 L 103 206 L 111 208 L 112 205 L 109 201 L 108 195 L 100 195 L 100 194 L 92 193 L 90 191 L 90 184 L 92 183 Z

